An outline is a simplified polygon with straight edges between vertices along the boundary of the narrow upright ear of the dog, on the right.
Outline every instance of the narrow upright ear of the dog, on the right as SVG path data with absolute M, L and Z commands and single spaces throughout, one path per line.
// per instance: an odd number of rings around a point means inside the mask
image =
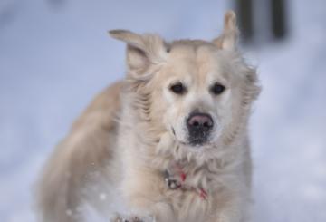
M 236 15 L 234 11 L 225 13 L 223 33 L 213 40 L 213 43 L 219 49 L 235 50 L 239 36 L 239 30 L 236 26 Z

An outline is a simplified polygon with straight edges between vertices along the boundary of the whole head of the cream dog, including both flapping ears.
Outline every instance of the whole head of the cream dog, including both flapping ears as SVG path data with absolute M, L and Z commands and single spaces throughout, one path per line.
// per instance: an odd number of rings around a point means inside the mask
M 154 34 L 110 31 L 127 43 L 127 80 L 139 95 L 141 116 L 180 144 L 200 148 L 232 140 L 246 122 L 259 87 L 236 50 L 235 13 L 211 42 L 165 42 Z

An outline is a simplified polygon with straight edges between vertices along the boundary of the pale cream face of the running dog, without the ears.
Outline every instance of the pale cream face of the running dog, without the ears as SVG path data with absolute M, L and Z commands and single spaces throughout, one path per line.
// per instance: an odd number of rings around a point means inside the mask
M 215 143 L 232 120 L 240 80 L 230 55 L 206 42 L 171 47 L 156 76 L 154 101 L 164 104 L 162 121 L 178 142 L 193 147 Z

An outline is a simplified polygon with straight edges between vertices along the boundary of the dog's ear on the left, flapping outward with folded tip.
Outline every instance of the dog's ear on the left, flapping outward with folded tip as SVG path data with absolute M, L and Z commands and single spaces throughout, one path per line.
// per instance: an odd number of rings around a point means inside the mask
M 165 61 L 167 49 L 163 39 L 156 34 L 135 34 L 128 30 L 111 30 L 110 36 L 127 43 L 129 74 L 146 78 L 149 68 Z

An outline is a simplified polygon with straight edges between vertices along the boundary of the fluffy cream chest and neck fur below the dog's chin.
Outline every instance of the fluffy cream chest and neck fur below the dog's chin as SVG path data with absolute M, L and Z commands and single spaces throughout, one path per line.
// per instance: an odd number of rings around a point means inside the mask
M 203 150 L 177 143 L 168 131 L 155 129 L 150 122 L 137 122 L 141 119 L 130 115 L 129 109 L 127 103 L 117 150 L 122 162 L 122 195 L 137 214 L 144 214 L 139 206 L 163 205 L 168 208 L 164 217 L 169 214 L 175 221 L 205 221 L 205 217 L 208 221 L 216 217 L 217 208 L 225 208 L 225 199 L 248 188 L 242 176 L 249 152 L 245 135 L 239 134 L 228 147 L 206 147 L 214 153 L 209 159 Z M 168 186 L 167 171 L 168 179 L 179 187 Z

